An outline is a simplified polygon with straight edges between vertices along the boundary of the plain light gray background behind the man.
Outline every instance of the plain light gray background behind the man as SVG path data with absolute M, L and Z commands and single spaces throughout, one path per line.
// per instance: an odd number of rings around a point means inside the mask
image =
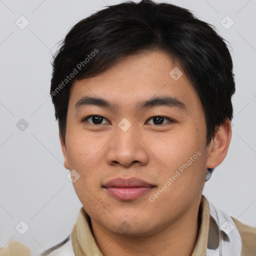
M 71 232 L 82 205 L 66 177 L 69 171 L 63 166 L 53 106 L 46 98 L 50 51 L 55 52 L 54 45 L 78 20 L 120 2 L 0 0 L 2 247 L 14 239 L 30 247 L 31 255 L 38 255 Z M 203 194 L 238 220 L 256 226 L 256 0 L 166 2 L 192 10 L 231 44 L 236 82 L 232 139 Z M 29 21 L 24 29 L 15 24 L 21 15 Z M 229 29 L 220 23 L 226 15 L 234 21 Z M 28 123 L 23 131 L 16 127 L 21 118 Z M 29 226 L 23 235 L 15 229 L 21 220 Z

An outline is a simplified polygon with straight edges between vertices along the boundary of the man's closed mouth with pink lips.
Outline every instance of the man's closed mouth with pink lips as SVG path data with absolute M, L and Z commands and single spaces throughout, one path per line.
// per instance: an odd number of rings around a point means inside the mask
M 135 177 L 113 178 L 103 185 L 106 193 L 118 200 L 136 199 L 148 193 L 154 187 L 155 185 Z

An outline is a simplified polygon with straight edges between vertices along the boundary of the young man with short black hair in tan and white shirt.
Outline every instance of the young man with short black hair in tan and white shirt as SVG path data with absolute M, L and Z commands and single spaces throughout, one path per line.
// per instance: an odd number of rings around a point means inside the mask
M 123 2 L 75 24 L 50 95 L 83 207 L 42 255 L 255 255 L 256 229 L 202 195 L 234 91 L 224 39 L 187 9 Z

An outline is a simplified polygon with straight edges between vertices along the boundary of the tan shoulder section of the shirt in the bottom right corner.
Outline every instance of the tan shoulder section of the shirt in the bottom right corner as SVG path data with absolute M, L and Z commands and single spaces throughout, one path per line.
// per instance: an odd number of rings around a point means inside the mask
M 241 236 L 242 251 L 241 256 L 252 256 L 256 254 L 256 228 L 246 225 L 236 218 L 232 220 Z

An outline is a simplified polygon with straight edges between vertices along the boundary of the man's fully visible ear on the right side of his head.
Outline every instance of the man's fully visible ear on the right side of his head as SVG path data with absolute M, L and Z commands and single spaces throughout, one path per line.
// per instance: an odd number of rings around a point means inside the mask
M 224 160 L 229 147 L 231 133 L 231 123 L 229 118 L 226 118 L 225 122 L 219 125 L 214 138 L 209 143 L 207 168 L 215 168 Z

